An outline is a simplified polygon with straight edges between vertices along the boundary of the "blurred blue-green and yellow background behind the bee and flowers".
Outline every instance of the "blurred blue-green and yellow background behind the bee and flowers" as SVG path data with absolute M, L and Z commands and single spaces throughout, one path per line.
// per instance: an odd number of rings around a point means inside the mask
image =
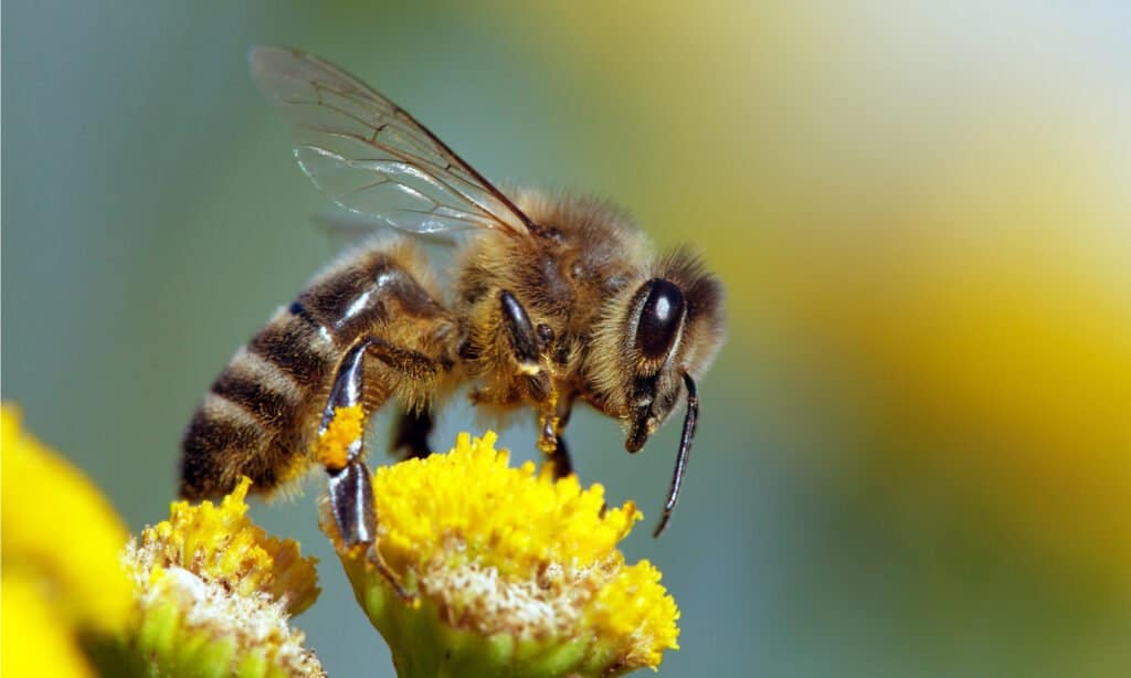
M 662 675 L 1126 676 L 1131 10 L 867 5 L 7 3 L 3 398 L 132 529 L 166 514 L 198 399 L 331 253 L 247 73 L 301 46 L 725 281 L 663 539 L 679 424 L 631 458 L 570 429 L 683 610 Z M 296 623 L 391 675 L 317 488 L 253 508 L 322 559 Z

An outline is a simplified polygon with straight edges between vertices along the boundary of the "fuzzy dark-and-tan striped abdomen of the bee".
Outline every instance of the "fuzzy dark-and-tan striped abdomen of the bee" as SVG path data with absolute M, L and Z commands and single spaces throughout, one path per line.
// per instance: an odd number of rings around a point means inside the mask
M 406 264 L 424 266 L 404 244 L 343 257 L 235 354 L 184 433 L 182 496 L 225 494 L 241 476 L 270 492 L 304 470 L 330 381 L 359 338 L 379 332 L 430 357 L 448 353 L 438 337 L 452 334 L 454 322 Z M 370 379 L 366 409 L 380 407 L 399 379 Z M 425 392 L 430 382 L 416 385 Z

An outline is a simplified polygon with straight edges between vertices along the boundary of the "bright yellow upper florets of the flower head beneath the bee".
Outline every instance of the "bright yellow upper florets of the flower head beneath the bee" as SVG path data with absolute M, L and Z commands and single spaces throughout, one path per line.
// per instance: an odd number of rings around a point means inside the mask
M 575 476 L 559 481 L 533 462 L 508 468 L 494 433 L 460 434 L 450 454 L 378 469 L 373 480 L 381 554 L 394 568 L 426 563 L 447 541 L 461 550 L 450 565 L 477 563 L 504 576 L 551 563 L 594 563 L 607 556 L 641 514 L 629 502 L 605 505 L 604 488 L 582 490 Z

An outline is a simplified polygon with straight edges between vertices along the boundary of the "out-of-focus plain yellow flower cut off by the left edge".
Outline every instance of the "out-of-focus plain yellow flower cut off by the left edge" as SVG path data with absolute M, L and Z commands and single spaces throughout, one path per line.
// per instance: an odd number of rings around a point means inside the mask
M 6 676 L 92 675 L 78 637 L 120 636 L 133 612 L 119 565 L 127 531 L 67 460 L 0 410 Z

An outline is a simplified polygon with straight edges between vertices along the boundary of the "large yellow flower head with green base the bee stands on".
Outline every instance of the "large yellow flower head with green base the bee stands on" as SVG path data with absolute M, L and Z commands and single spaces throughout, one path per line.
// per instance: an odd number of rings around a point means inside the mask
M 461 434 L 446 455 L 373 477 L 381 575 L 364 549 L 331 536 L 402 676 L 616 675 L 656 668 L 677 649 L 679 610 L 647 560 L 616 544 L 640 520 L 604 488 L 508 467 L 495 435 Z M 414 598 L 397 593 L 404 586 Z

